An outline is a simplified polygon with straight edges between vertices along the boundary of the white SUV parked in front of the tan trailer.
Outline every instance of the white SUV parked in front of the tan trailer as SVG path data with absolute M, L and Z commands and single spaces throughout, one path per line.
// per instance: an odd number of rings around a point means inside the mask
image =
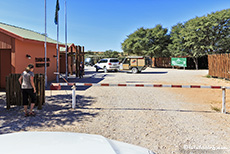
M 96 72 L 98 72 L 100 69 L 103 69 L 105 73 L 108 71 L 117 72 L 120 68 L 120 63 L 117 58 L 105 58 L 96 63 L 94 67 L 96 68 Z

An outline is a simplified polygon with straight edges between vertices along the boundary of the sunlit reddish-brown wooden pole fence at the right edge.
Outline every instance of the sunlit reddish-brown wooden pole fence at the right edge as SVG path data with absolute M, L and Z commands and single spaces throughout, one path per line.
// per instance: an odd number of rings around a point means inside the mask
M 212 77 L 230 79 L 230 54 L 215 54 L 208 56 L 209 75 Z

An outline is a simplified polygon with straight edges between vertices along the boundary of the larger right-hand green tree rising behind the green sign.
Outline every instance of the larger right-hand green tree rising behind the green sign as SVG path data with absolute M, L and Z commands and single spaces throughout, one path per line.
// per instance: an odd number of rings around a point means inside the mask
M 229 52 L 230 9 L 196 17 L 172 27 L 168 49 L 172 56 L 190 56 L 198 69 L 198 58 Z

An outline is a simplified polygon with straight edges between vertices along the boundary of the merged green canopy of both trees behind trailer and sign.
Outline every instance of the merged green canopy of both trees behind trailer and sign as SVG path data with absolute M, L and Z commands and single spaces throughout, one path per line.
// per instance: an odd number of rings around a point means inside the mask
M 139 28 L 122 43 L 124 52 L 151 57 L 189 56 L 198 58 L 230 52 L 230 9 L 195 17 L 171 28 L 156 25 Z

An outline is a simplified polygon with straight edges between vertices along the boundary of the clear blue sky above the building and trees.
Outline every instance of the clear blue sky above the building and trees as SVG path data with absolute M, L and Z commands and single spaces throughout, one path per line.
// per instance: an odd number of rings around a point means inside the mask
M 64 0 L 59 0 L 60 41 L 64 42 Z M 56 0 L 47 0 L 47 33 L 56 39 Z M 67 0 L 68 42 L 85 50 L 121 50 L 137 28 L 178 22 L 230 7 L 229 0 Z M 44 0 L 1 0 L 0 21 L 44 33 Z

